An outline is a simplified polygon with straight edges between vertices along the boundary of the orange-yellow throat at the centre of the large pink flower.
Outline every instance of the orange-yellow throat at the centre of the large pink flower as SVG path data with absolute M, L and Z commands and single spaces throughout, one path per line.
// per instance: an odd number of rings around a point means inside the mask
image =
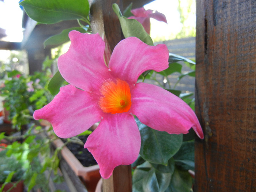
M 106 80 L 100 89 L 99 106 L 105 113 L 123 113 L 131 108 L 131 92 L 127 82 Z

